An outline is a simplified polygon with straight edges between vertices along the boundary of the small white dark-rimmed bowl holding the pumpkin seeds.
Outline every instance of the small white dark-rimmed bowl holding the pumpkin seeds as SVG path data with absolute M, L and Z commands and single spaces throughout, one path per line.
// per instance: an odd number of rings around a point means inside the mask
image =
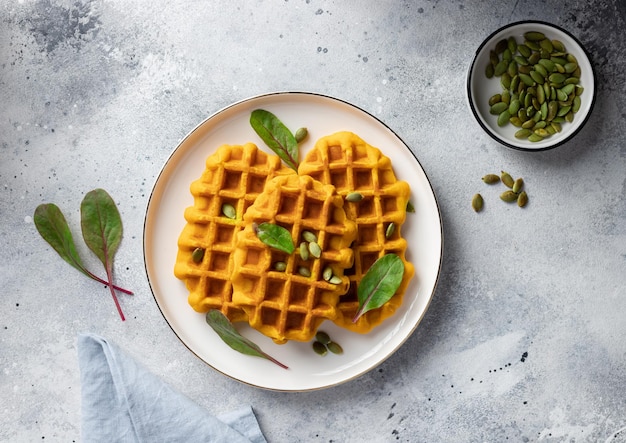
M 495 49 L 501 40 L 514 37 L 518 44 L 524 41 L 524 33 L 539 31 L 550 40 L 560 40 L 565 46 L 565 52 L 576 57 L 581 69 L 580 86 L 584 88 L 581 95 L 581 106 L 574 114 L 573 121 L 562 123 L 561 132 L 544 138 L 541 141 L 532 142 L 527 139 L 518 139 L 515 132 L 520 128 L 508 123 L 499 126 L 498 116 L 490 114 L 489 98 L 494 94 L 501 93 L 503 87 L 499 77 L 487 78 L 485 68 L 490 63 L 490 51 Z M 593 66 L 589 56 L 581 43 L 572 34 L 558 26 L 540 21 L 522 21 L 506 25 L 489 37 L 487 37 L 476 51 L 472 60 L 467 77 L 467 96 L 469 106 L 482 128 L 497 142 L 514 149 L 525 151 L 542 151 L 555 148 L 570 140 L 580 131 L 589 119 L 595 103 L 596 87 Z

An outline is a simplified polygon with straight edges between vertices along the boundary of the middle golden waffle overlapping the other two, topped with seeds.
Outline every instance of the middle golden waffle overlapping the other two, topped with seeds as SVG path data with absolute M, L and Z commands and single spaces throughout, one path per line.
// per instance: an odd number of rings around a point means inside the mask
M 343 198 L 334 186 L 308 176 L 276 177 L 244 222 L 234 253 L 233 303 L 246 312 L 250 326 L 276 343 L 311 340 L 324 320 L 337 316 L 337 301 L 349 286 L 343 272 L 352 266 L 356 225 L 346 217 Z M 303 260 L 297 247 L 292 254 L 268 247 L 255 231 L 255 224 L 264 222 L 286 228 L 296 246 L 303 231 L 312 232 L 321 257 Z M 284 271 L 275 270 L 277 262 L 286 264 Z M 324 280 L 327 266 L 341 278 L 339 284 Z M 309 269 L 310 277 L 300 275 L 300 267 Z

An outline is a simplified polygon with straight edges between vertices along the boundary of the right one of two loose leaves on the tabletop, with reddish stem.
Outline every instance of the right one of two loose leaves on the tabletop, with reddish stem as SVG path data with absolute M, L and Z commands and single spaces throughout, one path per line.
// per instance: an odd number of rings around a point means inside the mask
M 115 202 L 104 189 L 88 192 L 80 204 L 80 223 L 85 243 L 104 265 L 109 283 L 113 281 L 113 257 L 122 241 L 122 219 Z M 124 314 L 115 289 L 111 296 L 122 320 Z

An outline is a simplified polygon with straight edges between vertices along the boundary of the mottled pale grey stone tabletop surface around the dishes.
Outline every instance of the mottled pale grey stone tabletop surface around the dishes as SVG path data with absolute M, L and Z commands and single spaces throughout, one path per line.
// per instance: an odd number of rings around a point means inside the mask
M 482 39 L 523 19 L 572 32 L 598 76 L 585 128 L 544 153 L 497 145 L 464 92 Z M 270 442 L 612 438 L 626 426 L 625 28 L 621 0 L 0 1 L 0 440 L 80 441 L 87 331 L 212 412 L 251 404 Z M 251 388 L 199 361 L 143 267 L 147 200 L 179 140 L 277 90 L 335 96 L 388 124 L 444 220 L 440 283 L 415 334 L 363 377 L 311 393 Z M 531 203 L 485 192 L 477 216 L 480 177 L 500 169 L 526 179 Z M 124 220 L 115 271 L 136 292 L 125 323 L 32 222 L 55 202 L 77 226 L 95 187 Z

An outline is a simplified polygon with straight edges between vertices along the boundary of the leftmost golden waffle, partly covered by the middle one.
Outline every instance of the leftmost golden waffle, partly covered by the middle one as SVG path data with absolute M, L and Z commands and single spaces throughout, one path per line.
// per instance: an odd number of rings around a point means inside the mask
M 243 214 L 276 175 L 295 173 L 254 144 L 223 145 L 206 160 L 202 176 L 190 187 L 193 206 L 185 210 L 187 224 L 178 239 L 174 275 L 189 291 L 188 302 L 197 312 L 219 309 L 231 321 L 246 320 L 245 313 L 232 304 L 233 250 L 236 234 L 244 227 Z M 232 205 L 236 218 L 222 213 Z M 204 250 L 196 263 L 192 254 Z

